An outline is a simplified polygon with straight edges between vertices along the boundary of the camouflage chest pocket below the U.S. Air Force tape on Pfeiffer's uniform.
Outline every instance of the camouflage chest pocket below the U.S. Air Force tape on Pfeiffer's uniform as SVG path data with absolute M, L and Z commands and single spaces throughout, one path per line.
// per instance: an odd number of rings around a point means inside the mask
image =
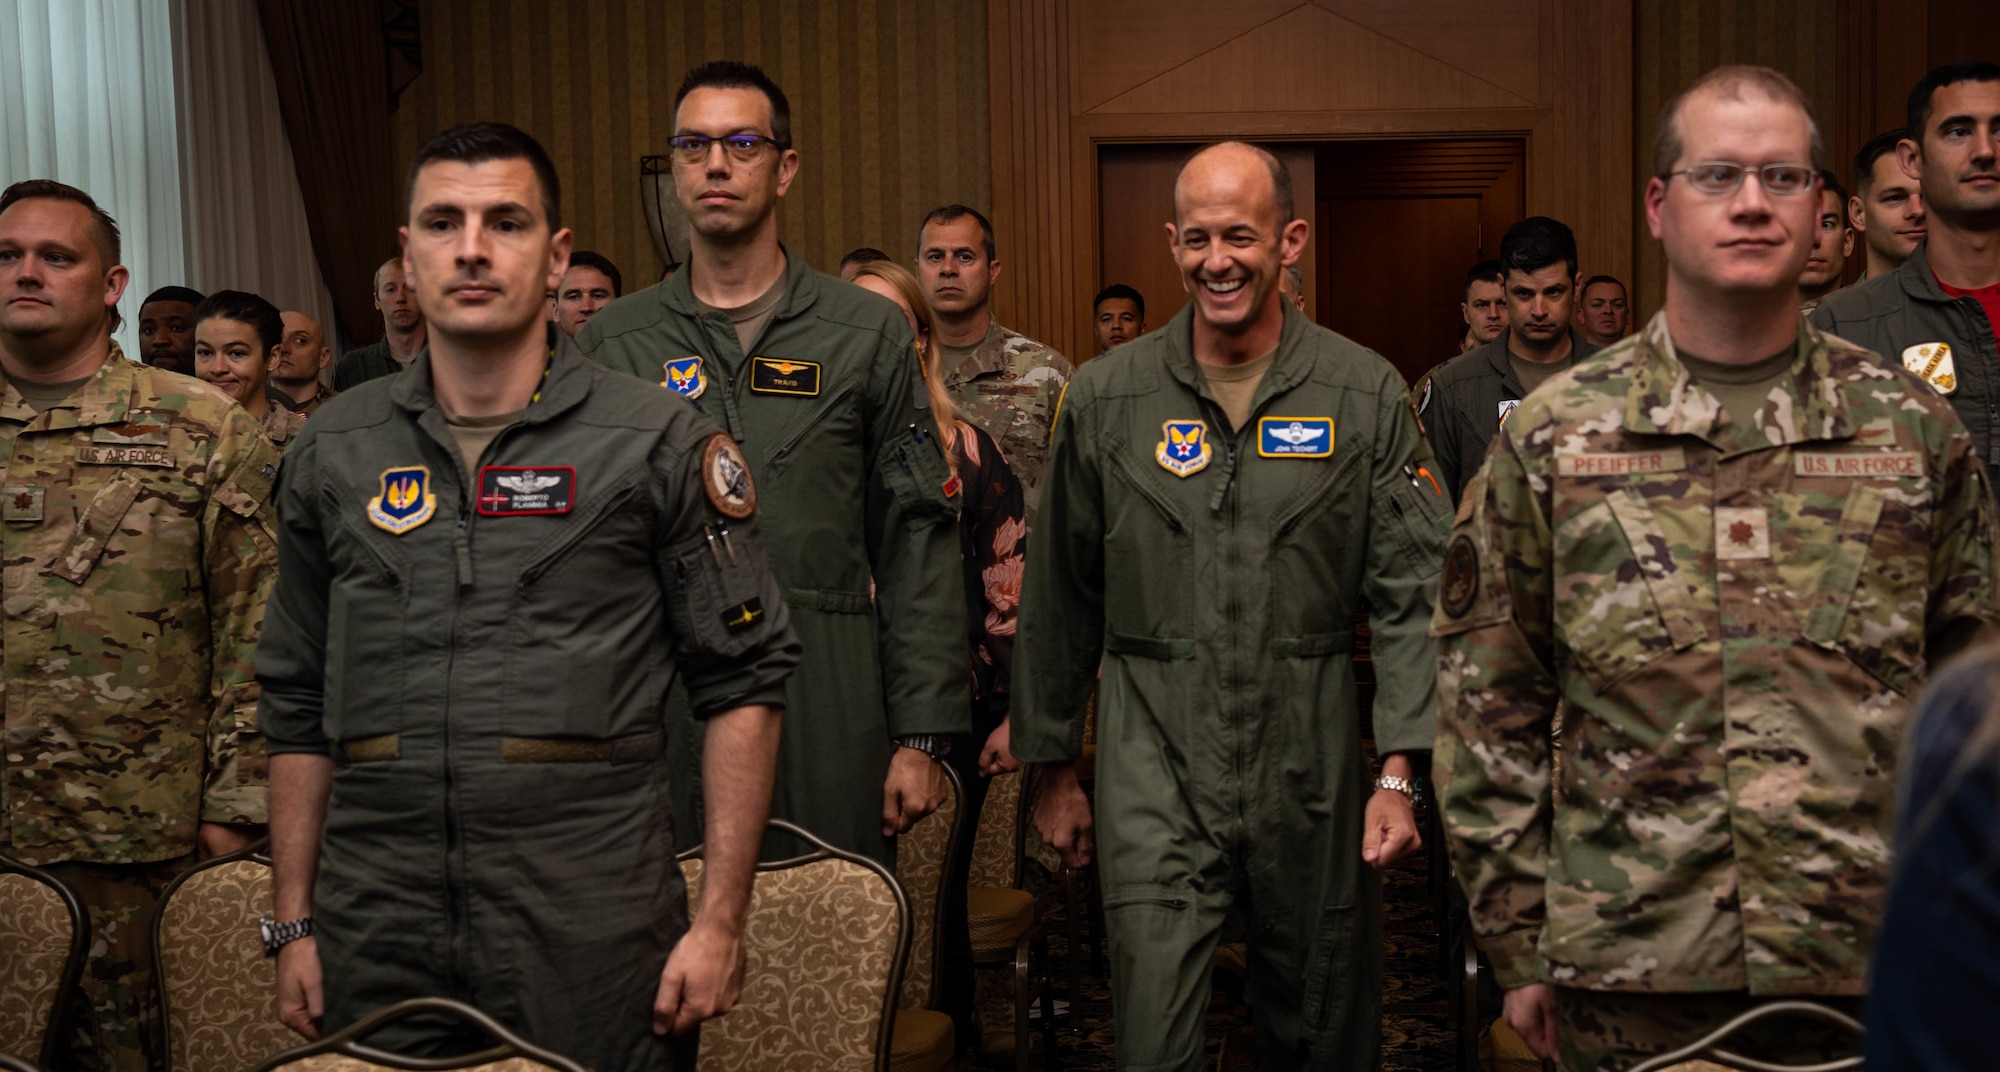
M 1924 620 L 1928 594 L 1928 542 L 1914 540 L 1910 546 L 1920 550 L 1898 554 L 1894 528 L 1902 510 L 1886 506 L 1888 494 L 1880 486 L 1856 482 L 1848 490 L 1834 552 L 1800 632 L 1820 648 L 1846 654 L 1888 688 L 1908 692 L 1922 658 L 1918 622 Z M 1910 526 L 1928 532 L 1914 520 Z M 1910 606 L 1900 598 L 1908 598 Z

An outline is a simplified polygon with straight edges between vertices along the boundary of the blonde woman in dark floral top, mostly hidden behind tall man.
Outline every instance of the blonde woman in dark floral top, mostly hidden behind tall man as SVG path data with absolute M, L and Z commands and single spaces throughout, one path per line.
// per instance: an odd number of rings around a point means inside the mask
M 944 456 L 952 476 L 962 486 L 958 536 L 966 572 L 966 624 L 972 664 L 972 740 L 954 742 L 946 762 L 958 768 L 966 784 L 966 802 L 958 810 L 972 834 L 980 804 L 986 800 L 986 778 L 1020 764 L 1008 750 L 1008 680 L 1014 670 L 1014 616 L 1020 610 L 1020 572 L 1028 560 L 1028 504 L 1020 480 L 1000 454 L 1000 444 L 980 428 L 958 420 L 952 394 L 944 390 L 938 362 L 928 360 L 932 348 L 930 306 L 908 268 L 890 260 L 854 266 L 854 286 L 872 290 L 902 308 L 916 336 L 916 354 L 924 362 L 924 386 L 930 390 L 930 410 L 944 434 Z M 966 934 L 966 872 L 972 854 L 960 852 L 950 876 L 944 914 L 944 1010 L 958 1020 L 958 1038 L 978 1038 L 972 1014 L 972 938 Z

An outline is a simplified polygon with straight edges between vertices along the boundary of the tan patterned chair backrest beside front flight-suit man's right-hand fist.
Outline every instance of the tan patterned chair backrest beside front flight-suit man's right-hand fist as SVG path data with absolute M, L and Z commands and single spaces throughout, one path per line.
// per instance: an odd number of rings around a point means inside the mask
M 910 900 L 882 864 L 790 822 L 770 826 L 814 852 L 758 864 L 742 998 L 702 1024 L 696 1068 L 888 1072 L 910 956 Z M 702 848 L 680 854 L 690 910 L 702 896 Z

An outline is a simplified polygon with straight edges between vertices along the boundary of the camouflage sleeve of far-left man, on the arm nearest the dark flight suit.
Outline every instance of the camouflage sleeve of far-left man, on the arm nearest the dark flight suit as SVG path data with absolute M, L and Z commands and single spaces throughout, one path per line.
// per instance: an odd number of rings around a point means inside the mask
M 278 580 L 272 480 L 278 448 L 242 410 L 210 456 L 202 548 L 208 590 L 210 716 L 202 822 L 266 822 L 268 758 L 258 724 L 256 644 Z

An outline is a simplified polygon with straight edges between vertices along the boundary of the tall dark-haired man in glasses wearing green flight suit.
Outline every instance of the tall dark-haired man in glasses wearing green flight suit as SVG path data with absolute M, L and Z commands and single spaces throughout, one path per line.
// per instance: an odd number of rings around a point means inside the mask
M 806 646 L 772 814 L 890 862 L 890 838 L 944 800 L 948 734 L 972 726 L 958 488 L 910 326 L 778 244 L 798 152 L 784 90 L 762 70 L 688 72 L 668 144 L 688 268 L 612 302 L 576 342 L 680 392 L 750 456 Z M 694 748 L 676 750 L 692 768 Z

